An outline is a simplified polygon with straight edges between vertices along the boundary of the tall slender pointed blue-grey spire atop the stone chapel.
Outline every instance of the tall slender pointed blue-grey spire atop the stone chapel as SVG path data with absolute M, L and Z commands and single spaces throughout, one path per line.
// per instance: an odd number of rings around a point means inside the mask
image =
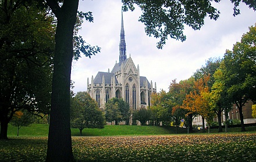
M 123 28 L 123 10 L 122 10 L 121 34 L 120 34 L 120 43 L 119 43 L 119 66 L 125 60 L 126 60 L 126 43 L 125 43 L 125 29 Z

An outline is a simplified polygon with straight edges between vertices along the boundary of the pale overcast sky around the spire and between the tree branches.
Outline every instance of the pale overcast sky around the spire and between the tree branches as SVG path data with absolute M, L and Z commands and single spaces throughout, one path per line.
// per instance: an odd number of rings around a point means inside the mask
M 185 27 L 186 41 L 170 39 L 162 50 L 157 49 L 158 40 L 145 34 L 144 24 L 138 21 L 140 8 L 123 13 L 126 39 L 126 54 L 140 67 L 140 76 L 157 83 L 157 91 L 168 91 L 173 79 L 190 78 L 205 65 L 211 57 L 223 57 L 226 49 L 232 50 L 234 43 L 248 32 L 248 27 L 256 23 L 253 9 L 241 3 L 239 16 L 233 17 L 233 4 L 228 0 L 214 4 L 221 15 L 217 21 L 205 19 L 201 30 Z M 94 23 L 84 22 L 80 35 L 92 46 L 101 47 L 101 53 L 91 58 L 82 56 L 72 63 L 71 79 L 74 93 L 87 90 L 87 78 L 91 83 L 99 71 L 112 71 L 119 62 L 119 41 L 121 27 L 121 7 L 118 0 L 84 0 L 79 2 L 79 10 L 93 12 Z

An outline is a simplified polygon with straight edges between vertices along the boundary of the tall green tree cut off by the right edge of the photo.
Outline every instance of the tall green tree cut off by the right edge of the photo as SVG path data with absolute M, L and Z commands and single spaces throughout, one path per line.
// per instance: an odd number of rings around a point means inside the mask
M 227 76 L 227 94 L 239 109 L 241 131 L 246 131 L 243 121 L 243 106 L 248 100 L 255 101 L 256 95 L 256 27 L 249 31 L 233 46 L 233 51 L 226 51 L 223 59 L 223 71 Z

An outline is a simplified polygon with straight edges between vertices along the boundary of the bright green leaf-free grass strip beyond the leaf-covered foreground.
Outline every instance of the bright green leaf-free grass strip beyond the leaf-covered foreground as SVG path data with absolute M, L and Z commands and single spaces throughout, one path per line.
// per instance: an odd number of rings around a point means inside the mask
M 20 137 L 47 137 L 48 124 L 32 124 L 22 127 L 19 131 Z M 256 127 L 247 127 L 247 132 L 256 132 Z M 240 132 L 241 128 L 229 128 L 229 132 Z M 79 136 L 79 129 L 71 129 L 72 136 Z M 224 130 L 223 130 L 224 131 Z M 194 134 L 202 130 L 195 130 Z M 211 133 L 217 133 L 218 129 L 212 129 Z M 105 126 L 103 129 L 85 128 L 83 136 L 112 136 L 112 135 L 169 135 L 176 134 L 176 127 L 170 126 Z M 187 134 L 186 128 L 179 128 L 178 134 Z M 17 128 L 9 124 L 8 137 L 16 137 Z

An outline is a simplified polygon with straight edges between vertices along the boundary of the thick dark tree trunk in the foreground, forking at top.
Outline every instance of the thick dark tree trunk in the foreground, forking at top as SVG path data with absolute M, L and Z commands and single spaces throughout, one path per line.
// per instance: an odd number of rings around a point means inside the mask
M 46 161 L 74 161 L 70 130 L 70 73 L 73 57 L 73 29 L 78 0 L 47 1 L 57 17 L 51 117 Z

